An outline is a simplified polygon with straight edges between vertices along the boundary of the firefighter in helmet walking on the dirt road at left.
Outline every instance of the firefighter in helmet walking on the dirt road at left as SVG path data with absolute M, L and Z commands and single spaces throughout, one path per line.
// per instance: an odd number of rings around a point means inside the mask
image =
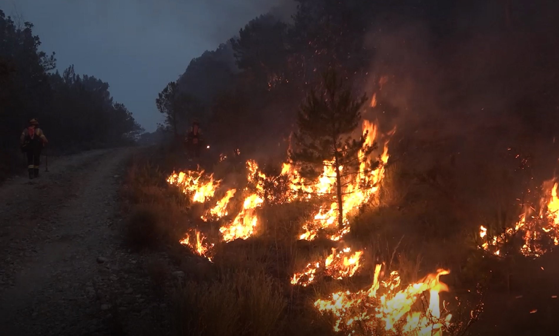
M 21 133 L 20 141 L 22 152 L 27 153 L 29 178 L 39 177 L 41 150 L 49 140 L 46 139 L 44 132 L 39 128 L 37 119 L 29 121 L 29 126 Z

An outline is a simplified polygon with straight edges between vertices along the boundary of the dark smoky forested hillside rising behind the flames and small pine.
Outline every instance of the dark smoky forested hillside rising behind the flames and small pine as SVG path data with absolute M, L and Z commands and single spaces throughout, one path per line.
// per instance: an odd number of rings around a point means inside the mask
M 291 20 L 254 18 L 193 59 L 160 93 L 169 129 L 180 134 L 197 118 L 222 151 L 285 153 L 306 92 L 337 68 L 356 93 L 376 93 L 372 115 L 385 130 L 397 124 L 400 136 L 454 149 L 473 132 L 482 144 L 506 138 L 504 146 L 520 147 L 555 136 L 556 2 L 297 3 Z

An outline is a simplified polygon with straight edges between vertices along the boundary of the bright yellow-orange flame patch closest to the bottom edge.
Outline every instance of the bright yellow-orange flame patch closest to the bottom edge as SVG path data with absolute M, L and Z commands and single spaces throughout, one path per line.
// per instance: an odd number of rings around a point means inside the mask
M 398 273 L 391 272 L 386 281 L 379 283 L 380 269 L 381 265 L 377 264 L 373 284 L 368 290 L 335 292 L 329 299 L 315 301 L 316 309 L 334 317 L 334 331 L 354 334 L 359 325 L 370 334 L 381 327 L 404 335 L 442 335 L 443 329 L 450 325 L 452 315 L 440 311 L 439 293 L 448 291 L 448 287 L 439 281 L 439 277 L 449 271 L 439 269 L 437 273 L 398 290 Z M 380 289 L 383 294 L 379 297 Z M 413 310 L 424 292 L 429 292 L 427 309 Z

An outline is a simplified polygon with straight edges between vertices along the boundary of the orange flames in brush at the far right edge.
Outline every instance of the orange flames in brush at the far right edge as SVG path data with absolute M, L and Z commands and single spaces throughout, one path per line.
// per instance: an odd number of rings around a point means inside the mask
M 507 228 L 495 236 L 487 236 L 485 226 L 480 227 L 480 238 L 485 240 L 481 248 L 494 255 L 503 255 L 501 249 L 518 235 L 523 241 L 520 253 L 539 257 L 548 252 L 548 245 L 559 245 L 559 198 L 556 178 L 543 182 L 543 196 L 539 202 L 538 215 L 527 207 L 514 228 Z

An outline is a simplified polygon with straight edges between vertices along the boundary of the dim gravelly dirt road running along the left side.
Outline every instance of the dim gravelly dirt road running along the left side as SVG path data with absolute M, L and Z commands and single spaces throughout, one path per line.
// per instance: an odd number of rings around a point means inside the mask
M 133 152 L 51 159 L 49 173 L 0 187 L 2 335 L 155 332 L 165 307 L 121 236 L 118 190 Z

